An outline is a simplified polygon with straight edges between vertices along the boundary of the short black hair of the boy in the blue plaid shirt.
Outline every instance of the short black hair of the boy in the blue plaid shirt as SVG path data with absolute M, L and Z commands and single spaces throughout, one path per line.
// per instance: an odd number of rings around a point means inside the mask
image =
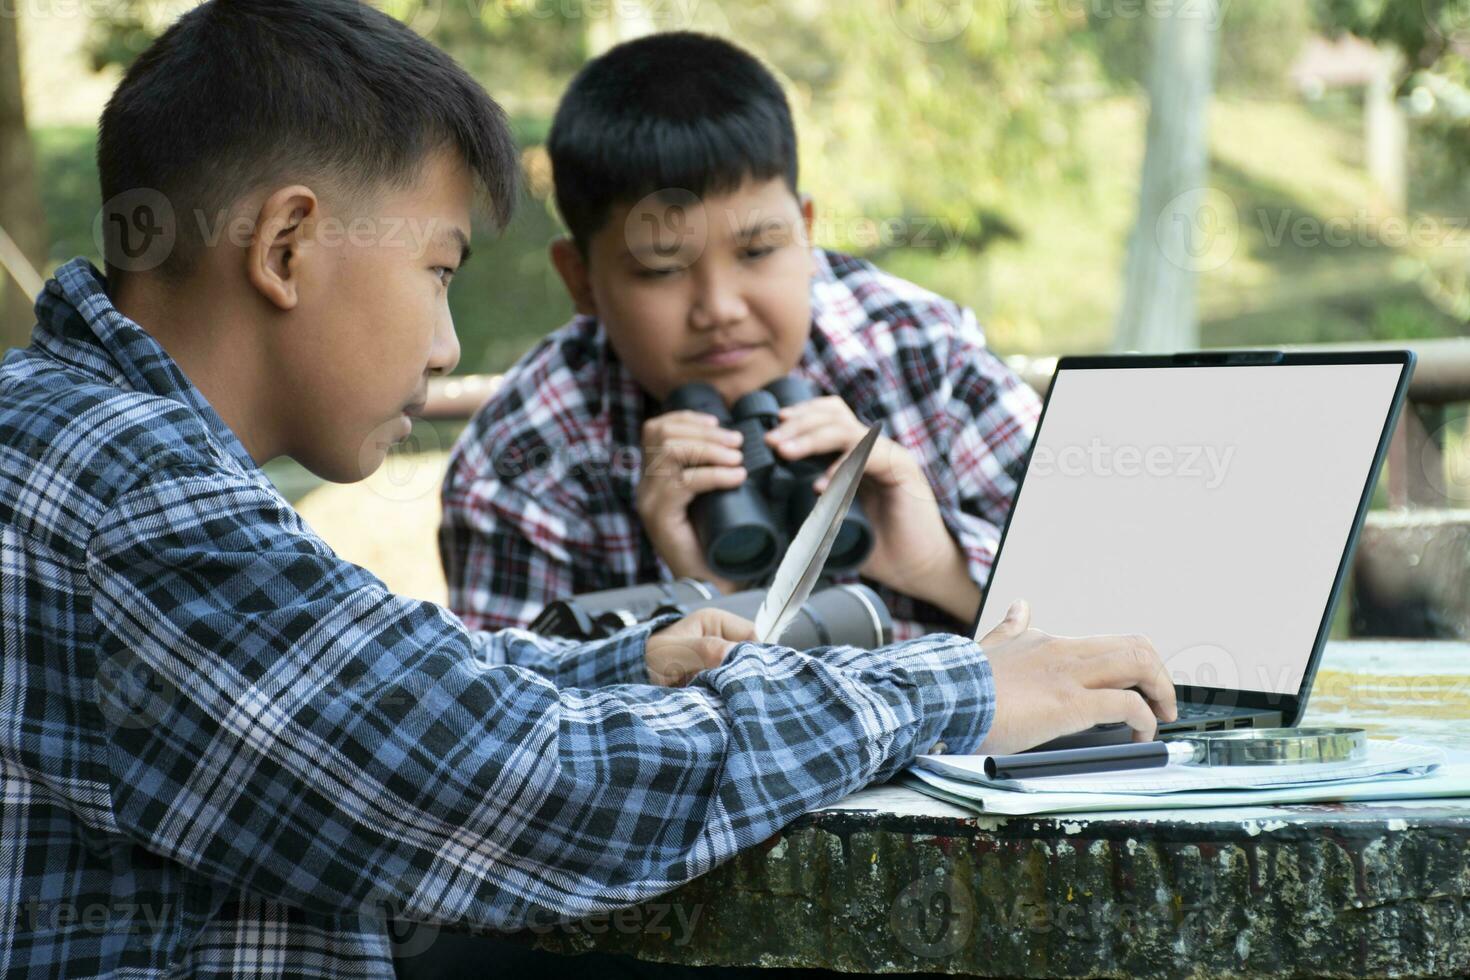
M 140 267 L 126 229 L 157 220 L 140 203 L 172 209 L 176 239 L 148 264 L 179 278 L 243 194 L 307 179 L 351 197 L 409 187 L 441 147 L 460 151 L 504 226 L 514 140 L 448 54 L 360 0 L 210 0 L 138 56 L 101 113 L 109 279 Z

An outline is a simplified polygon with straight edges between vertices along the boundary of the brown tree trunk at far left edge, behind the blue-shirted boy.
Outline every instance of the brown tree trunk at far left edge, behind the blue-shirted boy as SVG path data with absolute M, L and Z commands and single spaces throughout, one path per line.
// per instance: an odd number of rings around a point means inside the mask
M 35 269 L 46 263 L 46 216 L 35 185 L 35 153 L 25 126 L 18 10 L 0 16 L 0 229 Z M 0 270 L 0 350 L 29 342 L 34 295 Z

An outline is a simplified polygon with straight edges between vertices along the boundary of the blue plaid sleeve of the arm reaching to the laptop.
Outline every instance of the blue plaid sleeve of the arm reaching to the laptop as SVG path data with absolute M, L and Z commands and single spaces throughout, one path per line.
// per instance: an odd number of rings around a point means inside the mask
M 88 576 L 97 655 L 147 679 L 121 717 L 98 685 L 116 830 L 304 909 L 517 929 L 631 905 L 994 714 L 983 652 L 945 635 L 559 688 L 588 657 L 635 671 L 647 627 L 475 636 L 203 469 L 122 494 Z

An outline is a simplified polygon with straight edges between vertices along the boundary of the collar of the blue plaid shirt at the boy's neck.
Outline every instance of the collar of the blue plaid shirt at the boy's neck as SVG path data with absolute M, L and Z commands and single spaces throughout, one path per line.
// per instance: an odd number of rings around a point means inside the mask
M 107 281 L 87 259 L 56 270 L 35 301 L 31 341 L 51 357 L 98 381 L 172 398 L 193 408 L 245 470 L 257 469 L 238 436 L 168 351 L 107 295 Z

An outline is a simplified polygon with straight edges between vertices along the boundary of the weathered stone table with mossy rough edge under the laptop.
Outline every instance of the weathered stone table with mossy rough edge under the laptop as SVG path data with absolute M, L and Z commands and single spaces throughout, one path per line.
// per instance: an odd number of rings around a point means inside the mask
M 1470 644 L 1332 644 L 1304 724 L 1470 749 Z M 1467 976 L 1470 799 L 1000 817 L 875 786 L 535 942 L 856 973 Z

